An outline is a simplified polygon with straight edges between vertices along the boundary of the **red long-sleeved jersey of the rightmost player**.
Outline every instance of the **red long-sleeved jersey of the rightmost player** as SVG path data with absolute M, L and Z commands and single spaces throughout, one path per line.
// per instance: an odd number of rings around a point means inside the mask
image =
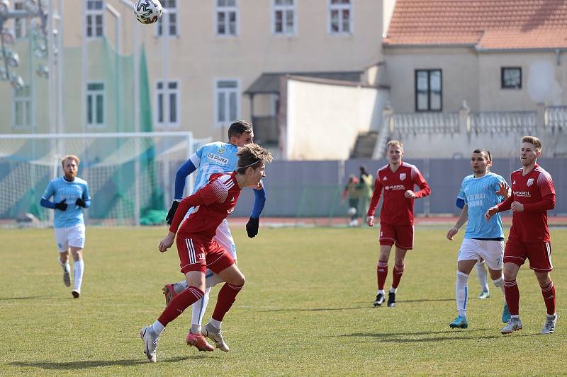
M 524 204 L 524 211 L 514 211 L 508 238 L 522 242 L 549 242 L 547 211 L 555 208 L 555 187 L 551 175 L 539 165 L 522 175 L 522 169 L 512 172 L 512 196 L 498 204 L 498 211 L 507 211 L 512 202 Z

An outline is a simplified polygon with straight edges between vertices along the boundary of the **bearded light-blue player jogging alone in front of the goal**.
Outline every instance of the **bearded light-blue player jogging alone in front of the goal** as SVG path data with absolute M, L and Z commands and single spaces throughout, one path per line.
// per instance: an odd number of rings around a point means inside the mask
M 41 197 L 43 207 L 55 210 L 55 242 L 59 250 L 59 263 L 63 267 L 63 282 L 71 286 L 69 266 L 69 248 L 73 255 L 73 290 L 74 298 L 81 295 L 84 262 L 84 217 L 83 209 L 91 205 L 89 186 L 85 180 L 77 177 L 79 158 L 73 155 L 64 156 L 61 161 L 64 175 L 49 182 Z M 53 202 L 50 201 L 53 197 Z

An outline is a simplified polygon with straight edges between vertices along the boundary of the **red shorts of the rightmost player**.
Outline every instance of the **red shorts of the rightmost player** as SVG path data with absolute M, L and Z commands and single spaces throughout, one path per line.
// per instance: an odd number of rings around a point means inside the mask
M 537 272 L 554 269 L 551 264 L 551 243 L 522 242 L 516 238 L 508 238 L 504 249 L 504 262 L 521 266 L 529 260 L 529 268 Z

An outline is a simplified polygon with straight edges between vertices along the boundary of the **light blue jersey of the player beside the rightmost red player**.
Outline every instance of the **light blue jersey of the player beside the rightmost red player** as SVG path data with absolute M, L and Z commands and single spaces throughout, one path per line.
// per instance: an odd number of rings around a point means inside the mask
M 459 199 L 463 199 L 468 206 L 468 224 L 465 238 L 503 238 L 502 219 L 496 214 L 486 221 L 484 214 L 490 208 L 503 201 L 503 197 L 496 194 L 498 184 L 506 182 L 498 174 L 486 173 L 481 178 L 468 175 L 464 178 L 459 190 Z

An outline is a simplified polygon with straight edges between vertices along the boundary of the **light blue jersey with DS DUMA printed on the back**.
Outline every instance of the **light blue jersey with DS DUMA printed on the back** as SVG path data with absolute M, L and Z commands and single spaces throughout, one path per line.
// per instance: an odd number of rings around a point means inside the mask
M 236 170 L 238 166 L 237 151 L 237 146 L 221 141 L 208 143 L 197 149 L 189 158 L 197 169 L 193 193 L 208 183 L 211 174 Z

